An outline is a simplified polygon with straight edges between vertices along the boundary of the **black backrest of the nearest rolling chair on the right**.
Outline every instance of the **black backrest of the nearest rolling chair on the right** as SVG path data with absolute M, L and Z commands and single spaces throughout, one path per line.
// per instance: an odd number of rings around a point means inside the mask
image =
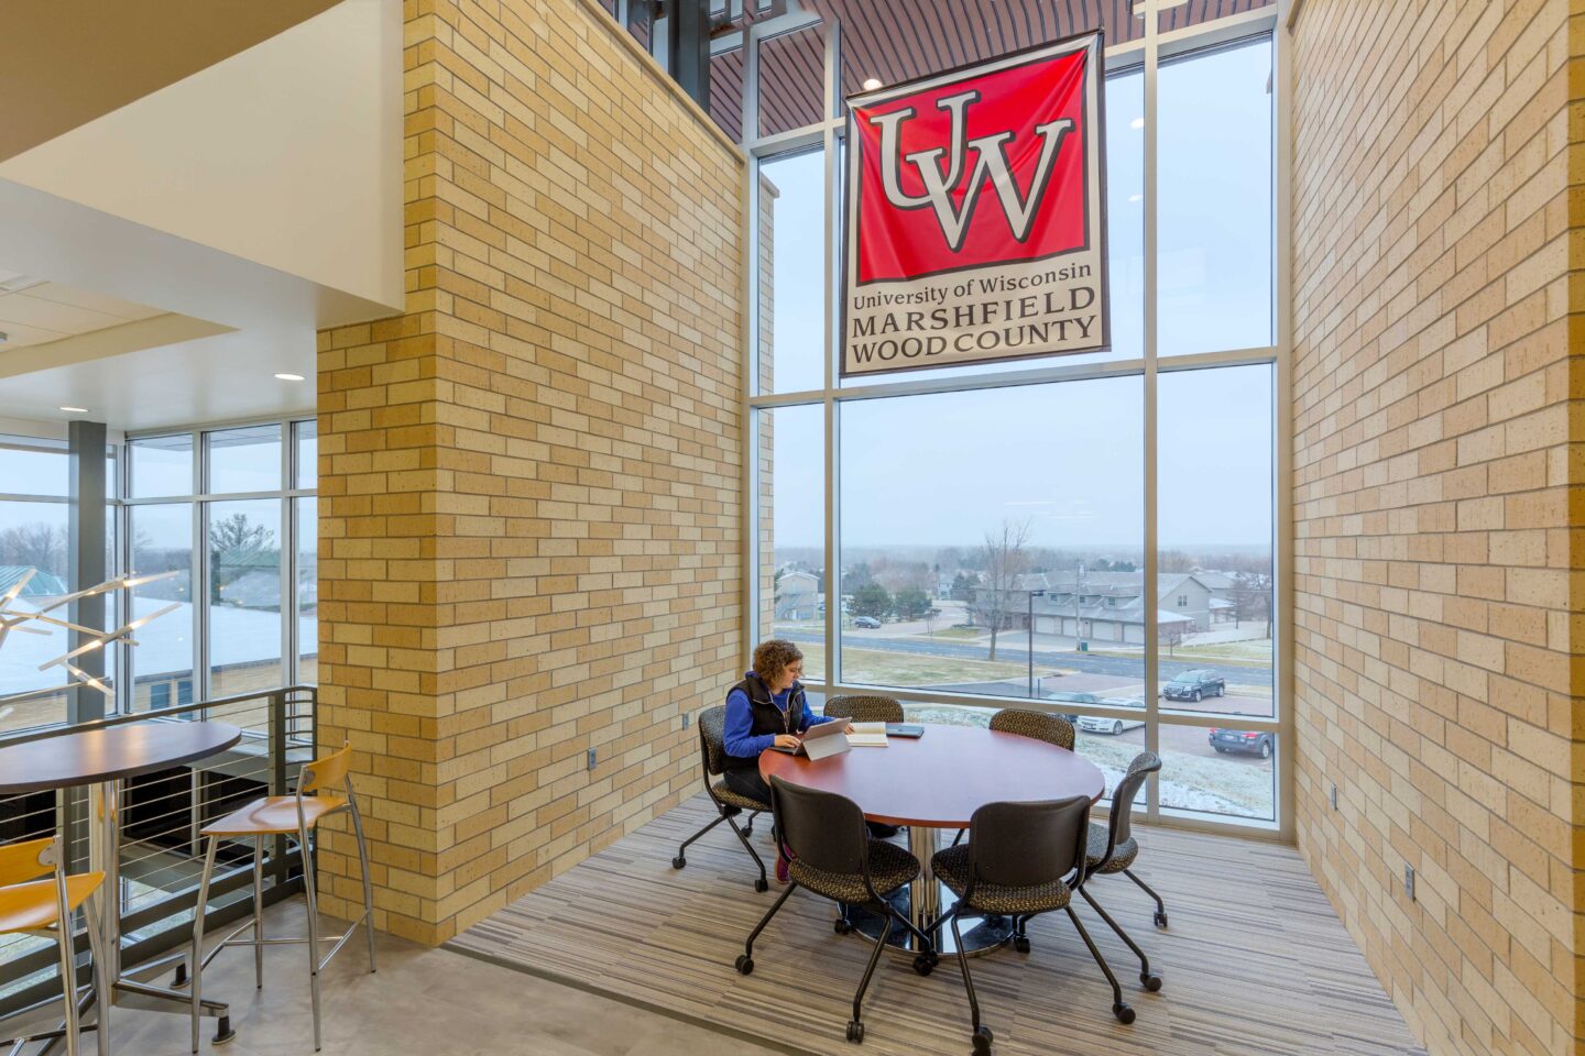
M 1084 861 L 1089 796 L 987 803 L 968 822 L 975 883 L 1033 887 L 1062 880 Z

